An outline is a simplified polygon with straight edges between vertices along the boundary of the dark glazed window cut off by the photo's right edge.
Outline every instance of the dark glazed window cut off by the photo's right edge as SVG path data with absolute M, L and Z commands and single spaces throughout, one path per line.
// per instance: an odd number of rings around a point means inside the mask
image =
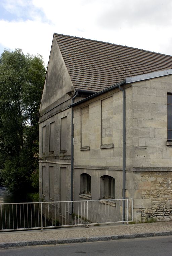
M 167 140 L 172 141 L 172 94 L 167 94 Z

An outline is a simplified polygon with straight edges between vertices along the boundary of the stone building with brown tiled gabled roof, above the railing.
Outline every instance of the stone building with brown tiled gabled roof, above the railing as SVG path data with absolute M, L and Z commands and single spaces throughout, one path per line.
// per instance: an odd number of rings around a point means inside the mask
M 172 220 L 171 68 L 172 56 L 54 34 L 41 200 L 134 198 L 136 221 Z

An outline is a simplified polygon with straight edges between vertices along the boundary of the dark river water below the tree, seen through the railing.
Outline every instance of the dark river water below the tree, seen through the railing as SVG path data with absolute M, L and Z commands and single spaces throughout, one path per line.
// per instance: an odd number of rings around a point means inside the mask
M 40 227 L 40 206 L 37 202 L 34 204 L 32 202 L 32 198 L 27 195 L 15 195 L 9 193 L 7 188 L 0 187 L 0 230 Z M 14 205 L 3 205 L 10 203 L 14 203 Z M 42 220 L 43 226 L 46 226 L 47 222 L 44 216 Z M 50 223 L 50 219 L 48 223 Z

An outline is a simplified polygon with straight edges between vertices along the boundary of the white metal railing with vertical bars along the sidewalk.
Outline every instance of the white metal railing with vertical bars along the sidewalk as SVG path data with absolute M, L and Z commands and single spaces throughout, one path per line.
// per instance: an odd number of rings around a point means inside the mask
M 125 216 L 123 216 L 123 201 Z M 124 217 L 124 218 L 123 218 Z M 89 226 L 133 221 L 133 199 L 0 205 L 0 231 Z

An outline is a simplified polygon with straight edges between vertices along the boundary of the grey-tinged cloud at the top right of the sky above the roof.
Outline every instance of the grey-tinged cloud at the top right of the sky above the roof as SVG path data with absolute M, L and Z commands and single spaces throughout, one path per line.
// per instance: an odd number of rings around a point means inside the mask
M 97 25 L 106 28 L 138 25 L 166 26 L 172 24 L 171 0 L 108 1 Z

